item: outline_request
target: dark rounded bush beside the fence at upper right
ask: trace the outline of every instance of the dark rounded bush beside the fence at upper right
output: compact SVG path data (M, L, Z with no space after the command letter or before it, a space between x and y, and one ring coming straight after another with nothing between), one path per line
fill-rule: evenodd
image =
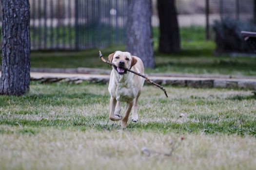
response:
M241 31L256 32L256 25L249 22L241 22L235 19L226 18L222 21L215 21L215 42L218 53L225 52L254 52L252 46L244 41Z

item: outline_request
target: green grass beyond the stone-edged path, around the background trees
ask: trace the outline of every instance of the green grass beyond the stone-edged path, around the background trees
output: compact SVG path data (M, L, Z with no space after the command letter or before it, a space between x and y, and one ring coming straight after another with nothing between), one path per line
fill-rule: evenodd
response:
M214 56L215 43L204 40L204 28L181 28L182 50L177 54L157 52L158 29L154 28L156 68L146 69L146 73L191 73L256 75L256 58ZM109 67L98 59L98 50L105 57L116 50L125 51L124 46L86 51L32 52L31 65L34 68L106 68Z

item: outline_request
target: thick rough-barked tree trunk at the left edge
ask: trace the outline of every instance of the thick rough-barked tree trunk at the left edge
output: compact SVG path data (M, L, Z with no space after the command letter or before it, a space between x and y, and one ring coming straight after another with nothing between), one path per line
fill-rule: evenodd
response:
M2 75L1 95L20 96L29 90L29 0L1 0Z

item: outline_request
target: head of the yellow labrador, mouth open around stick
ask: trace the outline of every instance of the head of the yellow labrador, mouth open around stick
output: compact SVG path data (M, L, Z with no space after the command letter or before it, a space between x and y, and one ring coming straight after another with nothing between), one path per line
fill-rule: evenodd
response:
M120 75L126 74L126 69L132 68L137 63L137 59L130 52L122 51L116 51L110 54L108 60L117 66L115 70Z

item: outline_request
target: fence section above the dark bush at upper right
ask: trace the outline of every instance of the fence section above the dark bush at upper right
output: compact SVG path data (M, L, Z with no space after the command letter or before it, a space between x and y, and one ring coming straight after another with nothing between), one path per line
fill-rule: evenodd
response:
M212 34L210 26L226 17L256 23L256 0L206 0L207 39Z

